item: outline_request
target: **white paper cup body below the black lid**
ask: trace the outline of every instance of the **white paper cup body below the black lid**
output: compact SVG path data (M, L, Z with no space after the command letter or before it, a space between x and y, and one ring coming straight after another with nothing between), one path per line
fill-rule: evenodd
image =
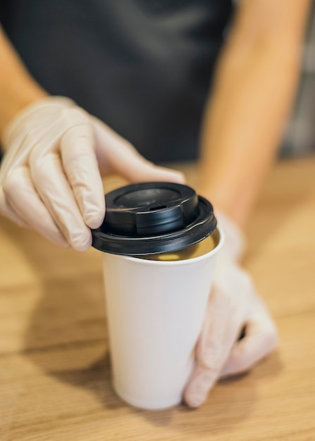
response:
M202 256L156 261L104 253L113 387L142 409L181 402L194 366L222 233Z

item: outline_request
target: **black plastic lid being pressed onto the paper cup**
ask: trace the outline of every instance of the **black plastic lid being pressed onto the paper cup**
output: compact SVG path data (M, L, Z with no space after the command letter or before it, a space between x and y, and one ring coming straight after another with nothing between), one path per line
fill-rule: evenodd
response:
M92 230L92 246L127 256L160 254L190 247L216 229L209 201L187 185L142 182L106 194L106 215Z

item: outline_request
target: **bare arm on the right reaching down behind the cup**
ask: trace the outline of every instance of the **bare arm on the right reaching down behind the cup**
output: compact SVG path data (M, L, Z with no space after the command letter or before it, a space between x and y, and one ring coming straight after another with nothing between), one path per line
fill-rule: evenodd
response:
M244 226L295 95L309 0L242 0L206 106L199 191Z

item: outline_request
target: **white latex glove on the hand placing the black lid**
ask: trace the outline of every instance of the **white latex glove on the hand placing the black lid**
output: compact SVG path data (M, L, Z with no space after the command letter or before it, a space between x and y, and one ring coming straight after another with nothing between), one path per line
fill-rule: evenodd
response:
M104 220L101 173L130 182L183 182L183 174L156 167L97 118L65 97L25 108L4 132L0 212L49 240L84 251L89 228Z

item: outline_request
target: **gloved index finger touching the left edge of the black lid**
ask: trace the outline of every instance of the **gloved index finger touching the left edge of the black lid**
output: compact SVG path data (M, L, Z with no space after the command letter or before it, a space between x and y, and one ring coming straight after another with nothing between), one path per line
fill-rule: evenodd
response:
M83 111L63 112L73 125L61 138L61 159L83 219L90 228L99 228L105 216L105 198L94 133Z

